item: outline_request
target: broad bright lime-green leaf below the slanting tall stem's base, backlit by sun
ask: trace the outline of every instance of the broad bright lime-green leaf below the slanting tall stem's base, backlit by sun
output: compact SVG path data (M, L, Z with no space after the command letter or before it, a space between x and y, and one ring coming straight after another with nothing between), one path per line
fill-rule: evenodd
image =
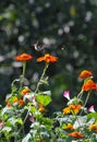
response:
M51 102L51 97L43 94L38 94L37 96L37 102L43 104L44 106L47 106Z

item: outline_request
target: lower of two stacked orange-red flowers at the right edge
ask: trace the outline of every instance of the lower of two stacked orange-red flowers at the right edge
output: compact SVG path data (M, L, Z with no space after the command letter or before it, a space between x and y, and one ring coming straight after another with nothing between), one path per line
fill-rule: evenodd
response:
M97 84L93 80L88 79L86 83L82 86L82 90L83 91L97 90Z

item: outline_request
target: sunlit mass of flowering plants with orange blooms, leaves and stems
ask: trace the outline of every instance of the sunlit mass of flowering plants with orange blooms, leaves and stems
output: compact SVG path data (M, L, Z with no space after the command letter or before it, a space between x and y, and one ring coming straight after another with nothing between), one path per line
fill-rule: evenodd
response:
M47 106L51 103L51 92L40 90L48 85L46 71L58 58L45 55L46 62L36 90L25 86L26 63L31 55L22 54L15 58L23 64L23 72L13 80L11 93L7 95L4 107L0 106L0 141L1 142L95 142L97 141L97 113L94 105L87 109L86 104L97 84L93 81L93 72L84 70L78 78L84 80L81 92L71 98L70 91L64 91L66 107L54 111L49 117ZM39 61L37 59L37 61ZM54 59L54 60L53 60ZM43 60L41 60L43 61ZM83 100L83 95L86 96ZM27 125L27 132L26 132Z

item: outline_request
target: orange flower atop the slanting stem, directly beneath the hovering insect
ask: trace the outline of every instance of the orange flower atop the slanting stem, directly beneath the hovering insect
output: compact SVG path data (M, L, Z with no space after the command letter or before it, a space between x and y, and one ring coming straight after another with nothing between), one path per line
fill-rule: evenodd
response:
M58 60L57 57L50 56L49 54L46 54L44 57L39 57L37 59L38 62L46 61L46 62L56 62Z

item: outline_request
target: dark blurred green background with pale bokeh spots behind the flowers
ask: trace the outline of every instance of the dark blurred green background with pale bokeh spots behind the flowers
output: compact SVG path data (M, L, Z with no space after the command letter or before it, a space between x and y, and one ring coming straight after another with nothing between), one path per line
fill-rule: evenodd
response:
M48 48L37 51L36 42ZM35 84L44 68L36 58L50 52L59 58L50 64L47 75L52 103L49 109L62 109L62 94L76 95L82 86L78 74L92 70L97 82L97 0L1 0L0 1L0 104L11 92L11 82L19 78L22 64L14 56L27 52L34 59L27 63L26 84ZM93 92L88 106L95 104ZM84 99L84 98L83 98Z

